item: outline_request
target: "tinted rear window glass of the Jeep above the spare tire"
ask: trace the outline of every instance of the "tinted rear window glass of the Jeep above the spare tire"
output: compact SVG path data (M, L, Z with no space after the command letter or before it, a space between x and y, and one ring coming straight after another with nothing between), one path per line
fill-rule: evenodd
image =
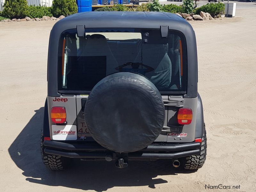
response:
M59 45L59 92L90 92L102 78L118 72L139 73L160 92L186 92L184 36L160 29L86 29L77 37L65 31Z

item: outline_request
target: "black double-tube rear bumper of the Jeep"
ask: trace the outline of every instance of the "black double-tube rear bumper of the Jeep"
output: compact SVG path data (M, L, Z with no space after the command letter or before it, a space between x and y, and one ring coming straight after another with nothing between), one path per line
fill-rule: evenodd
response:
M151 144L140 151L126 153L128 159L172 159L200 154L200 142L175 143L175 144ZM97 143L71 144L59 141L44 141L44 153L70 158L96 158L105 159L107 155L115 157L114 151L110 151Z

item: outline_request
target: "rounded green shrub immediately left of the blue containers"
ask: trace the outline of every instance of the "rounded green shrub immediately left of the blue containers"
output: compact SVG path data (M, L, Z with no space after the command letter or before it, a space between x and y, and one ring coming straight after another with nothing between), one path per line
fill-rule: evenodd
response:
M60 15L68 16L77 13L76 0L54 0L52 1L52 15L60 17Z

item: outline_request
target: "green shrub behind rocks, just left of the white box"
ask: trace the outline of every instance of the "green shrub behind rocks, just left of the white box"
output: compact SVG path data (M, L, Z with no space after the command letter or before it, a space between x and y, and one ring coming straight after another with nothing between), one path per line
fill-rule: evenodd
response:
M195 9L196 14L200 14L200 11L208 12L212 15L212 17L218 17L222 14L225 14L225 4L220 2L211 4L208 3Z

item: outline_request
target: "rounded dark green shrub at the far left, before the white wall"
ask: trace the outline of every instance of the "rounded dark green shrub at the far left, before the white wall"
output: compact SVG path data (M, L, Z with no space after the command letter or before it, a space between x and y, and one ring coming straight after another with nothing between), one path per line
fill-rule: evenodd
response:
M28 16L28 2L26 0L5 0L4 17L25 18Z

